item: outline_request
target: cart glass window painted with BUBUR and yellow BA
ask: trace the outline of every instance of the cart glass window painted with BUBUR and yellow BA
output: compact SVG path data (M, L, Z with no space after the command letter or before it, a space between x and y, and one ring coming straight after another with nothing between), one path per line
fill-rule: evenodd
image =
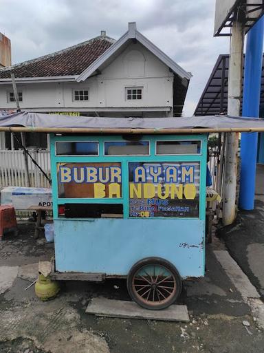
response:
M122 173L120 162L57 163L58 197L120 198Z

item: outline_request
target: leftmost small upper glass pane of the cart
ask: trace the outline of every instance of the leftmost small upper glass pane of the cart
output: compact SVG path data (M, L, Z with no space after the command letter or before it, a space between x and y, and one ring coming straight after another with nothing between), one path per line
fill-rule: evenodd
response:
M57 156L98 156L98 142L56 142Z

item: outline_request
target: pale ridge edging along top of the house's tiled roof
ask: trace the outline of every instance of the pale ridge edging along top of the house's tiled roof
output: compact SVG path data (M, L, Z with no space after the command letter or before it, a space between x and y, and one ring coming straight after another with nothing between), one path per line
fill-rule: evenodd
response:
M10 65L10 66L7 66L7 67L2 67L0 69L0 72L9 71L9 70L14 69L16 67L23 66L23 65L28 65L28 64L31 64L31 63L37 63L38 61L45 60L46 58L52 58L53 56L64 54L66 52L69 52L70 50L74 50L74 49L76 49L76 47L81 47L83 45L87 45L89 43L93 43L94 41L98 41L99 39L101 41L103 41L103 40L109 41L109 43L112 43L112 44L115 43L115 39L113 39L113 38L111 38L109 36L101 36L101 35L100 36L96 36L96 37L94 37L92 39L88 39L87 41L83 41L81 43L72 45L71 47L66 47L65 49L58 50L58 52L45 54L45 55L39 56L37 58L33 58L33 59L30 59L30 60L27 60L27 61L22 61L21 63L17 63L17 64Z

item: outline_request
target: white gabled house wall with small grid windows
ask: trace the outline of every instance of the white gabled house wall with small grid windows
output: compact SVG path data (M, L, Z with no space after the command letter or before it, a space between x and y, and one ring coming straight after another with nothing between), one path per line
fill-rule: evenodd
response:
M125 87L142 87L142 100L126 100ZM166 106L171 107L169 115L172 115L173 73L140 43L130 44L101 74L83 83L18 83L17 88L23 92L21 109L100 111L100 108L131 107L133 111L135 107ZM74 89L88 89L89 100L74 101ZM16 107L15 103L8 103L8 91L12 91L12 85L0 85L0 109ZM161 113L158 115L164 114Z

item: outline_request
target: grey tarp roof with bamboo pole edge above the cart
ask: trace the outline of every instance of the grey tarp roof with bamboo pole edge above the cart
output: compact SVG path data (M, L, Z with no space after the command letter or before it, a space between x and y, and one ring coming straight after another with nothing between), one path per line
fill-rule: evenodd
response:
M264 119L234 116L101 118L20 111L0 117L0 131L54 133L208 133L264 131Z

